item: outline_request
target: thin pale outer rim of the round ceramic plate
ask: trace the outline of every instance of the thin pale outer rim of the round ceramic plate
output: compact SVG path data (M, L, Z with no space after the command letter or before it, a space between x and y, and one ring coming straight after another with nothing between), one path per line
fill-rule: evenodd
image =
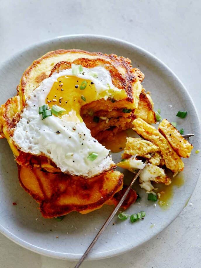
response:
M3 69L4 66L6 64L9 63L9 61L12 61L13 58L20 56L20 54L25 53L27 51L30 51L34 48L36 48L37 46L42 46L42 45L46 45L50 42L55 42L59 39L71 39L71 38L80 38L80 37L84 37L84 38L94 38L94 39L104 39L104 40L108 40L108 41L116 41L118 42L118 44L126 44L130 47L133 47L134 49L147 54L149 56L150 59L154 60L155 62L159 63L161 66L164 67L165 70L167 70L169 73L171 73L171 75L177 80L177 82L181 85L181 87L183 88L183 90L185 91L185 93L188 95L189 97L189 101L192 104L192 108L195 112L196 118L197 118L197 122L198 122L198 129L199 129L199 138L201 137L201 123L200 123L200 118L198 116L198 112L197 112L197 108L193 102L192 97L190 96L190 93L188 92L188 90L186 89L186 87L184 86L183 82L180 80L180 78L169 68L169 66L167 66L166 63L164 63L162 60L158 59L155 55L153 55L152 53L150 53L149 51L147 51L146 49L143 49L142 47L133 44L131 42L116 38L116 37L110 37L110 36L106 36L106 35L96 35L96 34L74 34L74 35L61 35L58 37L54 37L51 39L46 39L44 41L41 42L36 42L30 46L25 47L24 49L20 49L19 51L11 54L11 56L4 60L1 64L0 64L0 69ZM201 172L200 172L201 173ZM195 183L195 186L192 190L192 193L188 196L187 201L190 200L190 197L192 196L195 187L197 185L197 181L200 177L200 173L197 176L197 180ZM185 205L186 206L186 205ZM184 206L184 207L185 207ZM140 243L138 243L138 245L136 245L135 247L125 247L125 248L121 248L121 249L116 249L114 251L105 251L105 252L101 252L100 256L93 256L93 257L89 257L87 258L87 260L99 260L99 259L104 259L104 258L109 258L109 257L114 257L120 254L124 254L126 252L129 252L131 250L133 250L134 248L143 245L144 243L146 243L148 240L150 240L151 238L155 237L158 233L160 233L161 231L163 231L164 229L166 229L178 216L179 214L183 211L184 207L181 209L181 211L179 211L174 218L171 219L171 221L163 228L159 228L157 230L156 233L152 234L151 237L147 237L145 238L145 240L141 241ZM28 250L31 250L32 252L47 256L47 257L53 257L53 258L58 258L58 259L63 259L63 260L71 260L71 261L75 261L75 260L79 260L79 258L82 256L82 254L72 254L72 253L63 253L63 252L56 252L53 250L47 250L44 248L40 248L37 247L36 245L32 245L31 243L26 242L25 240L19 238L18 236L15 236L14 234L12 234L10 231L8 231L4 226L2 226L0 224L0 232L6 236L8 239L12 240L14 243L22 246L23 248L26 248Z

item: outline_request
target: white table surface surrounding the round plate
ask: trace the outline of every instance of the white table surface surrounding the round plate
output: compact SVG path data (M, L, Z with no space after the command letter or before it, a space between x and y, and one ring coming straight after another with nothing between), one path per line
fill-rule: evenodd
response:
M99 34L133 42L166 63L182 80L201 114L200 0L0 1L1 61L33 43L68 34ZM83 268L201 267L200 180L179 217L135 251L85 262ZM0 267L71 268L0 234Z

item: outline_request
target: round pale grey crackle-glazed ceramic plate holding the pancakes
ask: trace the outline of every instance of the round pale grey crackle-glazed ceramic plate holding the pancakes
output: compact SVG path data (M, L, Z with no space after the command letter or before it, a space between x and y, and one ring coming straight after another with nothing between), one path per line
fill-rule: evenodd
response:
M152 92L155 109L161 108L162 117L177 121L185 133L194 133L191 142L198 148L201 143L199 119L192 99L181 81L155 56L119 39L94 35L64 36L33 45L15 54L0 67L1 104L16 94L16 85L32 61L51 50L72 48L129 57L133 66L139 66L145 73L143 86ZM187 110L188 116L184 120L176 118L178 110ZM120 159L120 154L113 154L113 159ZM116 217L116 224L108 226L88 258L95 260L127 252L167 227L186 206L199 177L201 159L195 150L184 163L186 183L180 188L174 188L169 209L163 210L158 205L154 207L152 202L147 201L147 194L140 191L143 197L141 207L139 204L131 205L128 213L144 210L145 219L132 224L129 220L117 221ZM125 177L128 180L131 174L125 172ZM135 188L138 189L137 184ZM27 249L66 260L81 257L113 209L104 206L86 215L73 212L61 222L42 218L37 203L19 185L16 163L6 139L0 140L0 191L0 231ZM17 202L17 205L13 206L13 202Z

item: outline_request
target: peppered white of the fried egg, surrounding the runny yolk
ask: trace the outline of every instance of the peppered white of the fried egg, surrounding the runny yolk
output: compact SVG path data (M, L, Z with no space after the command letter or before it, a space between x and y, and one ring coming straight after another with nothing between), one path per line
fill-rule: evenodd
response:
M107 90L108 86L119 91L112 84L110 73L105 68L83 68L83 71L84 75L80 73L76 77L93 81L98 92ZM93 77L91 72L98 76ZM62 172L93 177L115 166L111 156L108 156L110 150L91 136L84 122L65 121L56 116L48 116L42 120L38 111L46 103L53 83L64 75L72 75L72 69L54 73L30 94L15 128L13 141L23 152L43 154L50 158ZM104 99L108 97L110 96L105 95ZM72 118L71 113L73 110L69 113L69 118ZM57 134L57 131L60 133ZM92 152L98 154L94 161L87 159Z

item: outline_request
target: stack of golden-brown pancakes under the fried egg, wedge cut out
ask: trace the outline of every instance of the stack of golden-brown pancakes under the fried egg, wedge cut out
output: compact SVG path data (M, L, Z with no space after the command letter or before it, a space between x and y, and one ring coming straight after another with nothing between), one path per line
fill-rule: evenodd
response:
M131 128L137 117L147 123L156 121L152 99L141 86L144 75L132 67L128 58L71 49L51 51L34 61L22 75L18 94L0 108L0 137L8 140L15 155L20 184L39 202L42 215L48 218L71 211L84 214L104 204L117 204L125 191L123 175L115 167L93 178L72 176L62 173L46 156L25 153L13 143L13 132L30 93L53 73L71 68L72 63L86 68L104 67L111 75L112 84L126 92L121 100L103 98L82 106L80 115L99 142ZM131 190L124 209L135 200L136 193Z

